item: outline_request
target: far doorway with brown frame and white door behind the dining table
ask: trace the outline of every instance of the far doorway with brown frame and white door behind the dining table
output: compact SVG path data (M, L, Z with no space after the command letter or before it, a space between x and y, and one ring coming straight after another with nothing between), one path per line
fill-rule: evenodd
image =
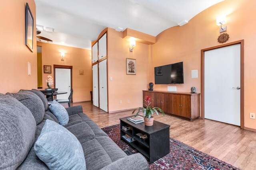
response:
M68 99L72 89L72 66L53 65L54 67L54 88L59 92L67 94L57 95L57 99Z

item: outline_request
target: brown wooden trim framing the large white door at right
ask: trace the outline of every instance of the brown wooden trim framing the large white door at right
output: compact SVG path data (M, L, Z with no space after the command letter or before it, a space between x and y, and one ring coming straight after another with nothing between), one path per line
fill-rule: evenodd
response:
M240 127L244 129L244 40L234 41L214 47L201 50L201 119L204 119L204 53L212 49L218 49L222 47L228 47L230 45L240 44Z

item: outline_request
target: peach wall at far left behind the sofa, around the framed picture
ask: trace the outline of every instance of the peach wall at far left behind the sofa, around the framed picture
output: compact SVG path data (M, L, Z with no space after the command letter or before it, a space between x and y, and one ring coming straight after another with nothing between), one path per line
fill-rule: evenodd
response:
M32 53L25 45L25 8L34 17ZM0 93L37 88L36 4L34 0L0 1ZM28 62L31 76L28 76Z

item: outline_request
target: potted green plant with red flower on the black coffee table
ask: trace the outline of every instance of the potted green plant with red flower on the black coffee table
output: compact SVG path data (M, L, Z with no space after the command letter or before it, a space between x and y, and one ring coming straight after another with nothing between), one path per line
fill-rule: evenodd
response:
M139 107L138 108L138 112L136 113L135 117L138 116L138 114L141 112L143 113L143 117L144 117L144 122L146 126L152 126L154 123L154 117L152 116L154 113L156 113L156 115L158 115L158 111L160 113L162 113L164 115L164 111L162 111L162 109L158 108L158 107L152 107L150 106L151 104L151 100L152 98L150 98L150 96L145 96L144 101L145 106L146 107ZM135 113L137 109L134 109L134 111L132 111L132 114Z

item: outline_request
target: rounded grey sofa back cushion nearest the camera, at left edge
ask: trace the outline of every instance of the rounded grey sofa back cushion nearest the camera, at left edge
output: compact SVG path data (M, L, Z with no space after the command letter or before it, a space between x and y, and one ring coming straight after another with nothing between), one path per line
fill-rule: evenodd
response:
M36 121L12 96L0 94L0 108L0 169L16 169L34 143Z

